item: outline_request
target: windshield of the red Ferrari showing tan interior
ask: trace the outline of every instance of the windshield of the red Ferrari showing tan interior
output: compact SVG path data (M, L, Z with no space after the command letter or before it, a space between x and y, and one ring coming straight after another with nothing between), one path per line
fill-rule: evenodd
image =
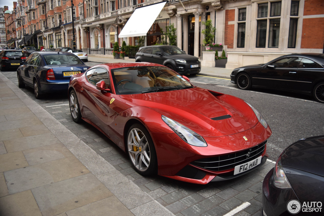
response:
M148 92L193 88L182 76L162 66L124 67L111 70L116 94L142 94Z

